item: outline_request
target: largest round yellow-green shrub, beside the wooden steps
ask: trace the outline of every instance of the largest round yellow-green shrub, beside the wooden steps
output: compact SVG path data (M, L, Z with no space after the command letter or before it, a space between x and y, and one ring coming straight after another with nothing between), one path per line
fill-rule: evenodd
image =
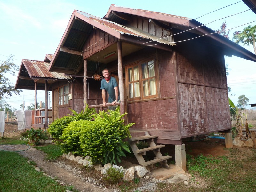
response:
M129 127L134 123L124 124L125 114L120 115L120 108L115 111L101 111L94 115L94 121L81 129L80 147L84 156L90 156L92 163L117 163L125 157L124 150L130 153L128 144L123 142L130 136Z

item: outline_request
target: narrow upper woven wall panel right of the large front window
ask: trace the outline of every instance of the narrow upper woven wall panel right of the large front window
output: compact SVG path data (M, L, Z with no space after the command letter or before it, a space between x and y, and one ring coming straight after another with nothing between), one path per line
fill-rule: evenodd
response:
M174 62L173 53L164 52L158 54L161 97L171 97L176 95Z

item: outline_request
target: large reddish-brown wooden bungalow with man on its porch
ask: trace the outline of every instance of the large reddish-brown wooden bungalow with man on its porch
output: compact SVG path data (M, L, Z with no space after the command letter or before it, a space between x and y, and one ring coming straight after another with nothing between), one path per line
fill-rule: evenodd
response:
M100 81L92 77L108 68L119 82L121 113L136 123L131 132L146 133L159 161L169 157L159 155L155 142L181 146L184 169L185 138L226 132L226 147L232 147L225 55L256 61L194 19L112 4L104 18L74 10L48 69L76 81L66 94L80 112L85 104L102 106ZM60 86L52 90L60 117L67 108L58 101ZM148 166L140 157L145 151L132 148Z

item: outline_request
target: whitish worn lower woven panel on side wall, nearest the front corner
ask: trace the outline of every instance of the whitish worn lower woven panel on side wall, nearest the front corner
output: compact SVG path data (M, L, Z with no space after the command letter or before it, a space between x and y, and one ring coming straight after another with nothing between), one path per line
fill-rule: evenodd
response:
M179 84L181 136L207 132L204 87Z

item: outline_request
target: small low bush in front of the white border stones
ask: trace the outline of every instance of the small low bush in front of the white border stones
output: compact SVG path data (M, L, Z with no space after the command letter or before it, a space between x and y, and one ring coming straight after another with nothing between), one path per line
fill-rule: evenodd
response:
M124 177L124 172L120 169L110 167L106 170L106 173L103 175L102 179L110 184L118 184L119 181Z

